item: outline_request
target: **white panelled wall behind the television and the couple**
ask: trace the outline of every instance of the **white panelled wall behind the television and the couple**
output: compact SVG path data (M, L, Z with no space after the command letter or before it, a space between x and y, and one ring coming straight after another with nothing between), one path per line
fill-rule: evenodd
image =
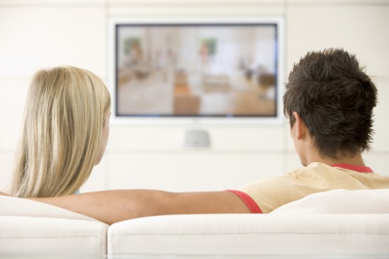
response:
M309 50L344 47L378 86L376 134L366 163L389 175L388 0L0 0L0 188L10 179L24 101L37 69L71 64L108 79L108 19L115 16L285 18L285 71ZM181 148L185 128L111 125L103 161L82 191L223 190L299 166L286 122L209 127L211 149Z

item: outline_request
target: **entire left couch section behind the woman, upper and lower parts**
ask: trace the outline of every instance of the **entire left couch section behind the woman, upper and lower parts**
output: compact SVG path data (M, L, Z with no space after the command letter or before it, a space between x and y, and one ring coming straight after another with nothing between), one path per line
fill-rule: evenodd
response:
M0 196L0 258L102 258L107 231L66 209Z

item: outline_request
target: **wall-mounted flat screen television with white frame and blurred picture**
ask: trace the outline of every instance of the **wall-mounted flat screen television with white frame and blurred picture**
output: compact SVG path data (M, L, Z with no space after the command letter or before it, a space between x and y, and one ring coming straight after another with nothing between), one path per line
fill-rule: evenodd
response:
M282 20L115 19L114 120L279 122Z

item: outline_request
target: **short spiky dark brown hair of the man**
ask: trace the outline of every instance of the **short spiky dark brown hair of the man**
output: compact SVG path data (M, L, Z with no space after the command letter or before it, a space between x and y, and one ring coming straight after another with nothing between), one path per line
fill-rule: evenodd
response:
M300 115L320 156L337 159L370 149L377 89L353 54L309 52L286 84L284 114Z

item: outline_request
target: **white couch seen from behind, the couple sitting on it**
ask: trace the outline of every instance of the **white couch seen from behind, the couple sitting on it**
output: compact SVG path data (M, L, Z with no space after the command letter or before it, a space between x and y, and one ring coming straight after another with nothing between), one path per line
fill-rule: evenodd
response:
M321 192L270 214L168 215L111 226L0 196L0 258L6 255L389 255L389 189Z

